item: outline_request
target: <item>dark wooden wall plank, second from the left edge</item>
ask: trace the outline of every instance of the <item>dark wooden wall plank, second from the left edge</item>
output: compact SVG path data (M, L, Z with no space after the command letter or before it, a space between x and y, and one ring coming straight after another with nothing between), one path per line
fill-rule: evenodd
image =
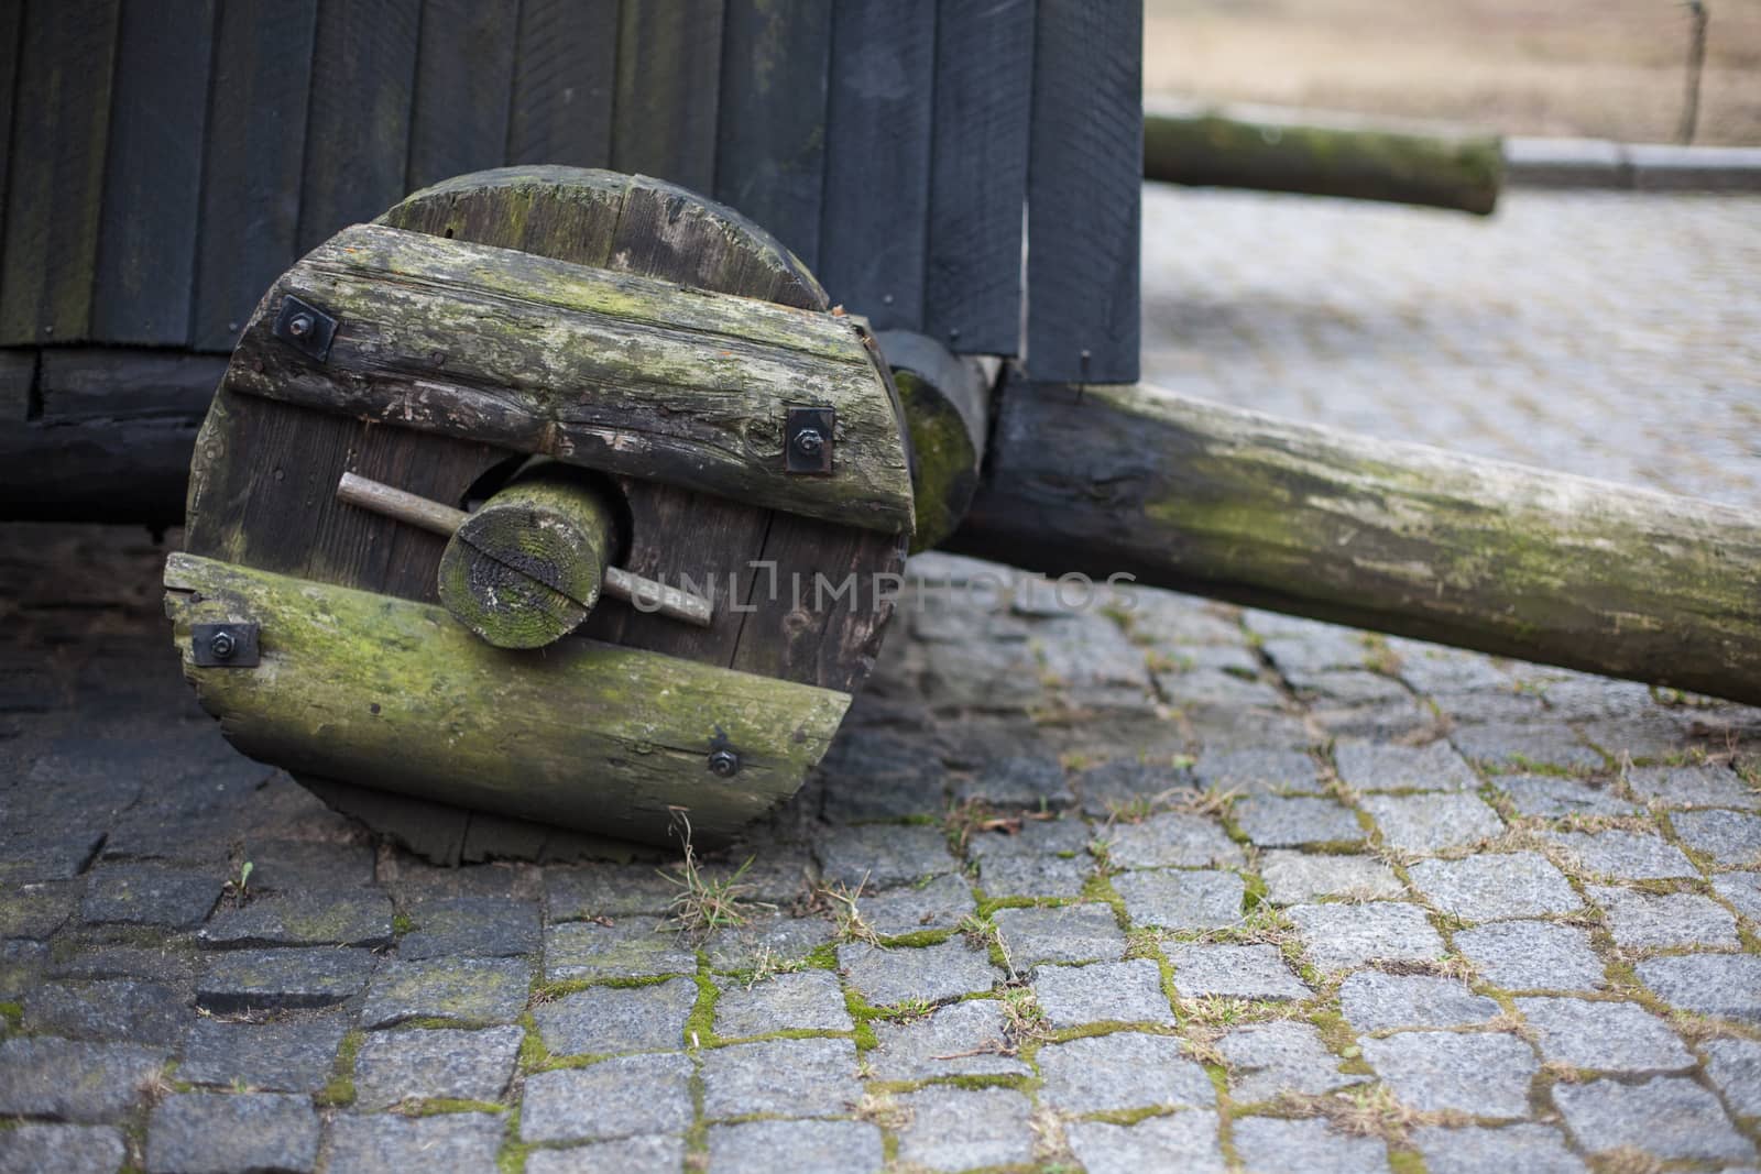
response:
M190 338L213 25L215 0L123 4L92 294L106 343Z

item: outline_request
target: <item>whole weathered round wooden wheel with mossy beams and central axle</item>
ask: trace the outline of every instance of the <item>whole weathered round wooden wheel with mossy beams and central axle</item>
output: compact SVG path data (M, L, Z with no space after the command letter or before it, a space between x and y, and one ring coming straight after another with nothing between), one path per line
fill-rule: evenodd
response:
M430 859L660 843L674 808L713 843L879 651L907 449L861 322L738 213L461 176L262 299L167 611L234 745Z

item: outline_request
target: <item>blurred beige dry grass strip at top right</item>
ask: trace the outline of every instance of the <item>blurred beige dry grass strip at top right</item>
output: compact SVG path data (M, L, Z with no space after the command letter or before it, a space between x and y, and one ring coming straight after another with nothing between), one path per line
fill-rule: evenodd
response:
M1698 143L1761 143L1761 5L1710 0ZM1148 0L1145 92L1668 143L1671 0Z

